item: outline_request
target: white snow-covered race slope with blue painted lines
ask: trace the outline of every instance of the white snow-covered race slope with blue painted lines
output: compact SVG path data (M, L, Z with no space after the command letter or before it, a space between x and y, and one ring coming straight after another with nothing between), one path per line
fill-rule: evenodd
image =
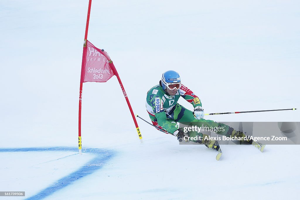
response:
M299 146L203 145L134 123L116 77L78 93L88 0L1 1L0 199L298 199ZM105 49L135 114L166 70L206 113L300 108L299 1L93 1L88 40ZM192 109L184 100L183 106ZM300 121L299 111L207 116Z

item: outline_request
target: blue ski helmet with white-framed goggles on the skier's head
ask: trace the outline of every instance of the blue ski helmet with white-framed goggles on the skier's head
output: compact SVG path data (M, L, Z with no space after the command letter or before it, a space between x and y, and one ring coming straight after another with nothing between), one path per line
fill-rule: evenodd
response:
M173 87L172 86L169 87L169 85L172 85ZM175 88L179 89L181 86L181 80L179 74L173 70L164 72L161 77L161 86L163 87L164 90L166 90L167 88L169 90L174 90Z

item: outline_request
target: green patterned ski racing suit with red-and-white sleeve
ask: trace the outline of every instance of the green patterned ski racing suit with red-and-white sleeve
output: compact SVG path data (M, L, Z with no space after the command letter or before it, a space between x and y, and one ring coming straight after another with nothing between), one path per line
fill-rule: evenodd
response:
M164 91L161 85L155 85L148 91L146 98L146 109L153 125L164 129L169 133L174 133L179 129L177 122L190 126L195 125L198 127L201 127L202 125L204 127L224 127L222 130L219 129L220 131L217 131L216 133L230 137L233 130L232 128L212 120L196 119L192 111L177 103L179 97L183 97L185 100L191 103L193 107L202 106L199 98L184 85L181 85L174 96L171 96ZM202 137L202 133L191 131L189 136Z

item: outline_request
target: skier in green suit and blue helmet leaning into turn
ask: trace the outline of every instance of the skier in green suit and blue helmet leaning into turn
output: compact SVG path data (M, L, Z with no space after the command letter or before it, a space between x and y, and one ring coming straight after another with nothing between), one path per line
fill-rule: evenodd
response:
M194 111L192 112L177 103L179 97L183 97L191 103L194 107ZM195 130L190 132L184 131L184 128L179 127L177 122L189 126L196 125L199 127L200 125L201 127L211 127L216 130L217 134L227 137L245 137L243 132L236 131L232 127L212 120L203 119L204 111L201 101L189 88L181 84L179 74L173 70L164 72L159 81L159 85L155 85L148 91L146 109L152 124L169 133L173 133L177 136L179 142L184 140L185 142L192 141L204 144L208 148L216 150L219 148L217 141L209 140L207 135L200 132L198 133L198 131ZM189 140L186 140L187 138L189 138ZM190 138L196 138L196 140L191 140ZM251 144L252 141L243 140L243 142Z

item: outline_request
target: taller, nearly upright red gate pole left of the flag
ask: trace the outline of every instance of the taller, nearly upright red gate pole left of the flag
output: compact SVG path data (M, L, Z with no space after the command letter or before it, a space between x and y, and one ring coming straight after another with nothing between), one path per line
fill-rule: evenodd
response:
M80 78L80 88L79 88L79 115L78 115L78 149L79 154L82 154L82 145L81 145L81 102L82 102L82 82L83 76L82 67L84 67L84 52L86 51L86 40L88 38L88 22L90 21L90 13L91 13L91 4L92 0L88 1L88 16L86 18L86 26L85 26L85 35L84 35L84 43L83 43L83 53L82 53L82 64L81 64L81 78Z

